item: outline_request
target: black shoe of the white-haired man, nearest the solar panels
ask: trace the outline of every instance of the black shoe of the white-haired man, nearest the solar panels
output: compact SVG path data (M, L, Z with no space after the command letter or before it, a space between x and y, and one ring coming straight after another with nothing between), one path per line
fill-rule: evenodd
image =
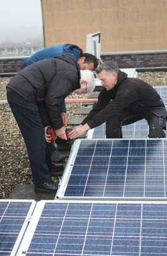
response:
M44 182L42 184L35 184L34 191L37 193L55 193L57 192L58 185L55 182Z

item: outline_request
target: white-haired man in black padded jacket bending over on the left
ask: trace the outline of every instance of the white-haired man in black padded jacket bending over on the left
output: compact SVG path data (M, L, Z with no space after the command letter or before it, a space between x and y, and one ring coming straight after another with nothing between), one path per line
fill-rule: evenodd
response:
M67 140L60 105L80 87L85 92L87 81L80 79L80 66L72 54L27 66L7 84L7 101L27 146L35 192L57 190L45 158L44 126L52 126L57 136ZM40 115L42 101L45 104Z

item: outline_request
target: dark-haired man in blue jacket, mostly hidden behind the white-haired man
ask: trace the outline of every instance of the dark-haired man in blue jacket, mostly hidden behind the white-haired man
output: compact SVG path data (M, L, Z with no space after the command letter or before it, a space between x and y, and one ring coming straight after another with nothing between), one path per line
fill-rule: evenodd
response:
M81 70L89 69L93 71L97 68L97 58L92 54L83 53L82 49L75 44L55 44L54 46L41 49L29 58L22 60L20 68L23 69L37 61L41 61L42 59L54 58L55 56L62 56L66 53L72 53L74 55ZM65 101L61 104L61 116L64 121L64 125L67 126L68 118L66 114ZM58 162L65 160L65 156L60 154L58 150L69 150L71 143L70 140L57 138L56 144L57 148L55 148L54 143L47 143L47 148L49 150L50 160L54 164L54 168L58 170L62 168L62 165L59 165Z

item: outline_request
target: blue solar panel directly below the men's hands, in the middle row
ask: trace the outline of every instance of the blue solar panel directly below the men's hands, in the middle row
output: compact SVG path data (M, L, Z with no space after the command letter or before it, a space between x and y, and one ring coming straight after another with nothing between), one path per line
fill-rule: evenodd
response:
M57 198L165 198L167 140L77 140Z

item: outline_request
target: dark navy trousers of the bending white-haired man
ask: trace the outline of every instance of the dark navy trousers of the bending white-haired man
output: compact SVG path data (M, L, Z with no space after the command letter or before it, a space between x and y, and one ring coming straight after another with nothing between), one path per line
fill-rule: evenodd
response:
M34 183L49 182L44 126L37 106L7 88L7 101L27 146Z

